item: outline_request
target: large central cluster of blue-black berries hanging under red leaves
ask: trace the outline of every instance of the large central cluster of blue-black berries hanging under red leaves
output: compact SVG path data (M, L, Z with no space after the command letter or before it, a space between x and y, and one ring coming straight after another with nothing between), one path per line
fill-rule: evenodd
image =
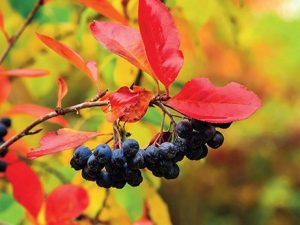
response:
M126 183L136 187L143 181L140 169L149 169L154 176L166 179L178 177L177 162L184 156L200 160L207 156L208 148L223 144L223 135L216 130L228 128L230 124L210 124L198 120L181 121L176 125L176 139L159 146L150 145L140 149L134 139L127 139L121 149L111 150L107 144L98 145L93 151L80 146L70 161L75 170L82 170L82 177L96 181L104 188L123 188Z

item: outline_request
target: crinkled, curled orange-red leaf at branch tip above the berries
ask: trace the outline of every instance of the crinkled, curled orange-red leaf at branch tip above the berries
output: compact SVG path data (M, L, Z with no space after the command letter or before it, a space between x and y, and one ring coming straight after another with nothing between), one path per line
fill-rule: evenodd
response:
M108 96L110 108L106 108L107 119L113 122L117 119L127 122L136 122L146 113L152 98L152 92L139 86L133 90L121 87Z

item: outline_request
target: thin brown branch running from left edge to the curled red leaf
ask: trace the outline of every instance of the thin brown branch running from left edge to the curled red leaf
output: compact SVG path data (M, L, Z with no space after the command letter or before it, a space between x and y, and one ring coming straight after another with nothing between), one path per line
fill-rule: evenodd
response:
M37 120L33 121L31 124L29 124L26 128L24 128L24 130L22 130L21 132L19 132L18 134L14 135L13 137L11 137L10 139L8 139L6 142L4 142L1 146L0 146L0 154L5 151L5 148L9 147L10 145L12 145L13 143L15 143L16 141L18 141L19 139L21 139L22 137L26 136L26 135L32 135L34 132L31 132L31 130L36 127L37 125L53 118L53 117L57 117L57 116L61 116L61 115L65 115L71 112L78 112L81 109L86 109L86 108L92 108L92 107L99 107L99 106L105 106L108 105L109 102L108 101L99 101L99 102L83 102L77 105L73 105L70 107L66 107L66 108L59 108L56 109L40 118L38 118Z

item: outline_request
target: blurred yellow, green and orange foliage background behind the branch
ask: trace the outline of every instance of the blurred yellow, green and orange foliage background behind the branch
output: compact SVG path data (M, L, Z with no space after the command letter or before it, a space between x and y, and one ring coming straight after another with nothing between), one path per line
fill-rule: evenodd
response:
M121 0L110 1L123 13ZM23 23L35 0L1 0L8 33ZM300 1L298 0L166 0L181 35L185 64L171 94L191 78L208 77L216 84L236 81L256 92L263 107L249 119L224 130L225 143L202 161L184 160L178 179L165 181L145 173L139 188L114 190L103 217L111 224L132 224L143 212L143 203L157 225L297 225L300 224ZM137 0L127 7L130 26L137 27ZM86 76L47 49L35 32L56 38L85 59L98 62L101 85L110 90L130 86L137 68L104 50L92 37L88 24L109 20L72 0L51 0L42 7L2 66L46 69L42 78L11 79L12 91L1 103L0 114L13 105L34 103L55 107L57 84L62 76L69 93L63 105L73 105L95 95ZM6 41L0 34L0 52ZM0 83L0 91L1 91ZM154 90L144 74L141 85ZM32 117L13 115L13 130ZM67 115L70 127L109 132L111 126L98 109ZM159 131L161 114L150 109L129 130L142 146ZM45 131L59 127L43 125ZM42 134L25 138L23 146L38 146ZM96 146L103 138L90 141ZM91 196L87 214L101 204L104 191L85 182L68 166L72 150L30 163L40 174L46 193L61 184L43 164L54 167L68 182L86 187ZM41 219L42 221L42 219ZM11 197L11 188L0 178L0 224L27 224L24 209Z

